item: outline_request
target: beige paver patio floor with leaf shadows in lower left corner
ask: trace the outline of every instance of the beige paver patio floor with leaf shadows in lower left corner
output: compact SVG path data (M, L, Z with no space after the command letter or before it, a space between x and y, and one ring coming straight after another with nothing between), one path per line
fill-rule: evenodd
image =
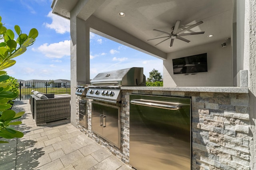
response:
M28 100L16 101L14 111L25 111L20 139L3 139L0 170L131 170L108 150L76 129L70 120L36 125Z

